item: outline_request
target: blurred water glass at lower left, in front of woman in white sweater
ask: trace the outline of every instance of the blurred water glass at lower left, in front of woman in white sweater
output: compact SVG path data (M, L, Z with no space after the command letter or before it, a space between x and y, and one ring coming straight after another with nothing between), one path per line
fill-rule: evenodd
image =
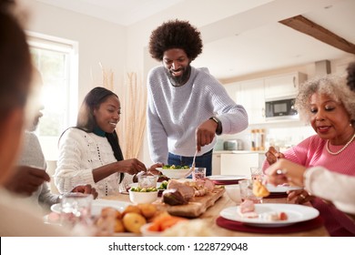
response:
M74 228L77 224L84 226L91 222L91 194L66 193L61 200L60 219L64 226Z

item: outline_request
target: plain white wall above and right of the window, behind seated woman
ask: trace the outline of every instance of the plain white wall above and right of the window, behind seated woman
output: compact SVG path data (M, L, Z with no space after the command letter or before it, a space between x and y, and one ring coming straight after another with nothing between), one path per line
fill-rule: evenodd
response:
M99 62L115 74L115 92L123 84L126 61L126 28L30 0L27 30L78 42L78 104L93 87L101 85Z

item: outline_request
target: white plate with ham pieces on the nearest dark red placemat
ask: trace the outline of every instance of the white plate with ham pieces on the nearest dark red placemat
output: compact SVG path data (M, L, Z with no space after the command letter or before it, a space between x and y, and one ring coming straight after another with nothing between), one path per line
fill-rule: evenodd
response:
M219 215L224 219L239 221L250 226L263 228L285 227L297 222L314 219L320 215L318 209L294 204L256 204L255 211L259 214L272 211L283 211L286 212L289 219L270 221L260 217L255 219L242 218L238 214L238 206L223 209Z

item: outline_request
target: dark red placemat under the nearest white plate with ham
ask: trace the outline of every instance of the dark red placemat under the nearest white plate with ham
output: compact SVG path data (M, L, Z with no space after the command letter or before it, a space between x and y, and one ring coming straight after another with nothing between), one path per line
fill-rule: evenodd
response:
M218 219L216 219L216 223L219 227L228 230L263 233L263 234L280 234L280 233L307 231L307 230L320 228L323 225L323 219L321 219L319 216L315 219L309 219L307 221L302 221L289 226L276 227L276 228L262 228L262 227L249 226L239 221L224 219L223 217L220 216L218 217Z

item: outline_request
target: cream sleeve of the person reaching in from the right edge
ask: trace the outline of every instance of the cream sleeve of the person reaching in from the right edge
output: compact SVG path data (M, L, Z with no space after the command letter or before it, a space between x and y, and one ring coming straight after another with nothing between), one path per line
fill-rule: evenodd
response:
M310 194L330 200L341 211L355 214L355 177L314 167L306 170L304 185Z

